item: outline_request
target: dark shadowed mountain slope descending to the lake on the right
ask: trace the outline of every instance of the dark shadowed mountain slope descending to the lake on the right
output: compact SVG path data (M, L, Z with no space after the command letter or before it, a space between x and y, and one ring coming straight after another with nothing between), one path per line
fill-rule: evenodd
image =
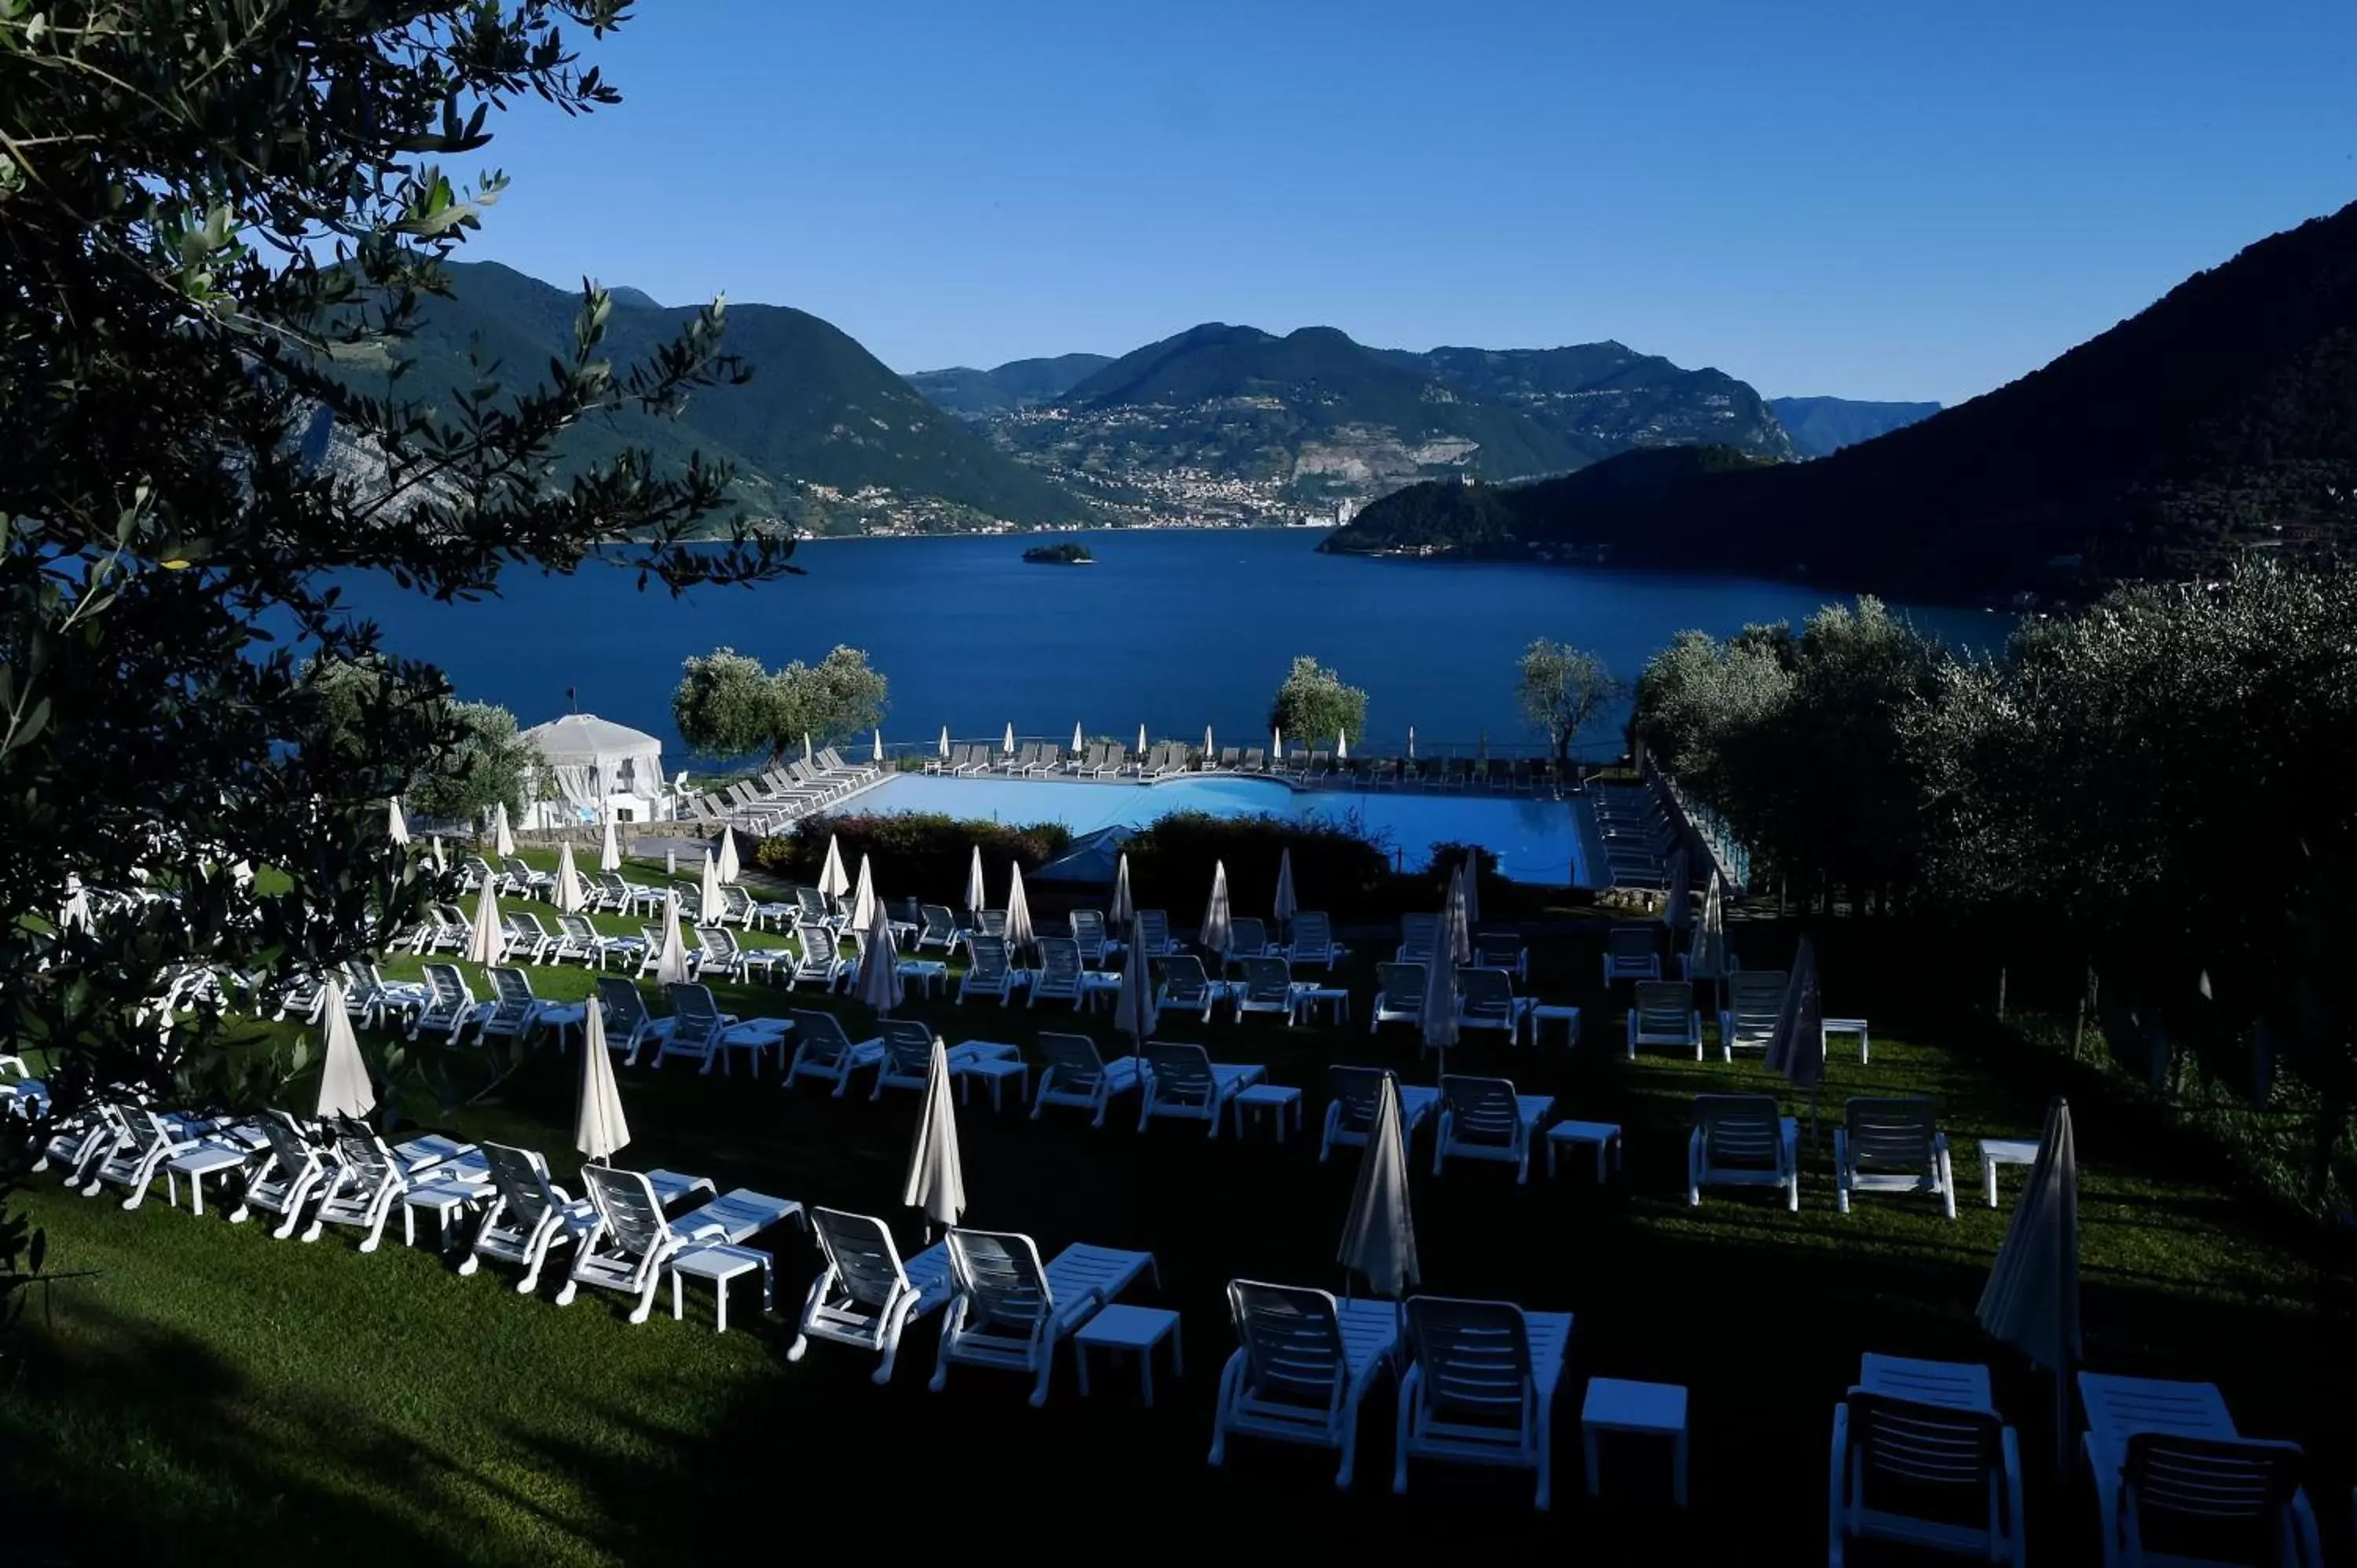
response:
M2348 552L2357 205L2194 274L2044 370L1831 457L1697 457L1676 483L1638 483L1659 479L1640 472L1648 457L1501 490L1475 547L1942 601L2194 578L2253 549ZM1391 498L1327 547L1450 549L1433 516L1428 498Z

